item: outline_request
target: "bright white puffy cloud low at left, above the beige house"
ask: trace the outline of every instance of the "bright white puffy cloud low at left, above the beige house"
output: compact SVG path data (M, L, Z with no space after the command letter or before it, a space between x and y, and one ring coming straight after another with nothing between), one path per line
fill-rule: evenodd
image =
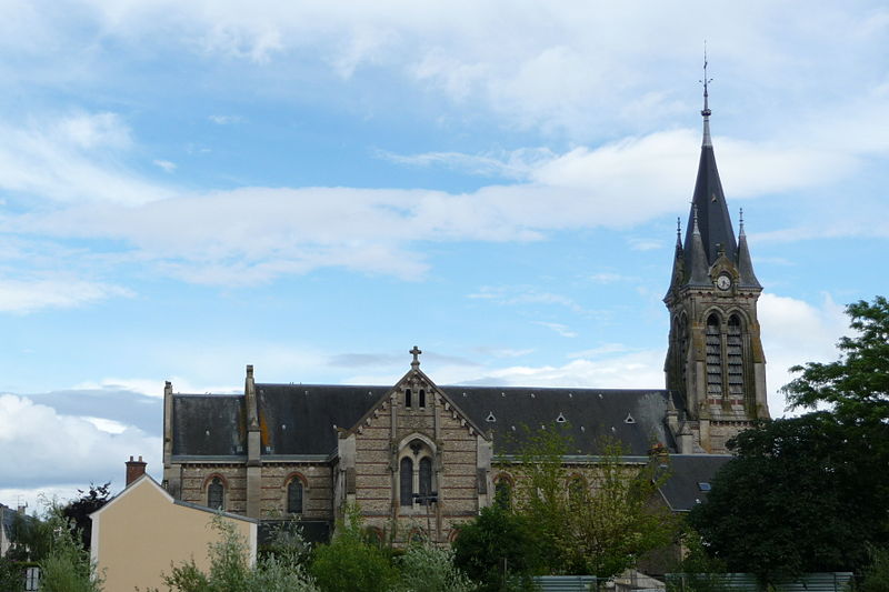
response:
M26 397L0 395L0 488L117 481L130 454L160 464L159 437L132 427L109 433L110 423L100 429L94 421L59 414Z

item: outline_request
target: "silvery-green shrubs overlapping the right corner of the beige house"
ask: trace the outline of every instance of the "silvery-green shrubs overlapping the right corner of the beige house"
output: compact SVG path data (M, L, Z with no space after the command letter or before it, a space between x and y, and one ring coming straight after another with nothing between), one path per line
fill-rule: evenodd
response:
M278 545L279 553L269 554L253 568L248 556L247 541L233 524L217 516L212 528L219 539L208 545L210 571L203 573L187 561L164 574L163 582L176 592L317 592L312 579L299 563L301 550L288 551ZM279 541L280 543L280 541Z

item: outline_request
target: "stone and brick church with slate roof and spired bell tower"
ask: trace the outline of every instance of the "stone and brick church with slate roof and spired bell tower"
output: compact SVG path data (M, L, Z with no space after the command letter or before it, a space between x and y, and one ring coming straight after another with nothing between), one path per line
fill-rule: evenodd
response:
M706 491L707 479L695 474L711 475L728 458L728 439L769 411L762 287L743 219L736 239L729 217L706 84L701 114L691 211L685 240L677 230L663 299L666 389L439 385L420 369L416 345L409 370L390 385L272 384L248 365L239 394L177 393L167 382L163 486L184 502L259 520L299 515L321 530L351 502L381 540L444 542L511 483L525 427L563 424L568 464L595 462L607 435L622 442L628 463L666 448L683 482ZM681 483L662 491L680 511L703 495L679 491Z

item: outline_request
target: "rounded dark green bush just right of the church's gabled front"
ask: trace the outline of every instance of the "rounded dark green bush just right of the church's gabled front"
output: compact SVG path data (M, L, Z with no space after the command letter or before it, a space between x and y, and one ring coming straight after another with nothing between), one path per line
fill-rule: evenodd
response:
M538 542L526 516L507 504L495 504L460 528L453 542L455 563L479 583L479 592L520 590L522 582L528 588L530 576L542 573Z

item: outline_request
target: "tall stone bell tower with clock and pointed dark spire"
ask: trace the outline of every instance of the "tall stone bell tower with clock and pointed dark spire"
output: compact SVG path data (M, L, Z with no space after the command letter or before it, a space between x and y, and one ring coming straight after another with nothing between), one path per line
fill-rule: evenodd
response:
M757 319L762 285L753 273L743 211L736 240L719 180L706 61L703 68L698 178L685 240L677 221L672 278L663 299L670 311L665 372L667 388L685 401L686 419L696 423L700 445L716 451L750 421L768 418L769 409Z

